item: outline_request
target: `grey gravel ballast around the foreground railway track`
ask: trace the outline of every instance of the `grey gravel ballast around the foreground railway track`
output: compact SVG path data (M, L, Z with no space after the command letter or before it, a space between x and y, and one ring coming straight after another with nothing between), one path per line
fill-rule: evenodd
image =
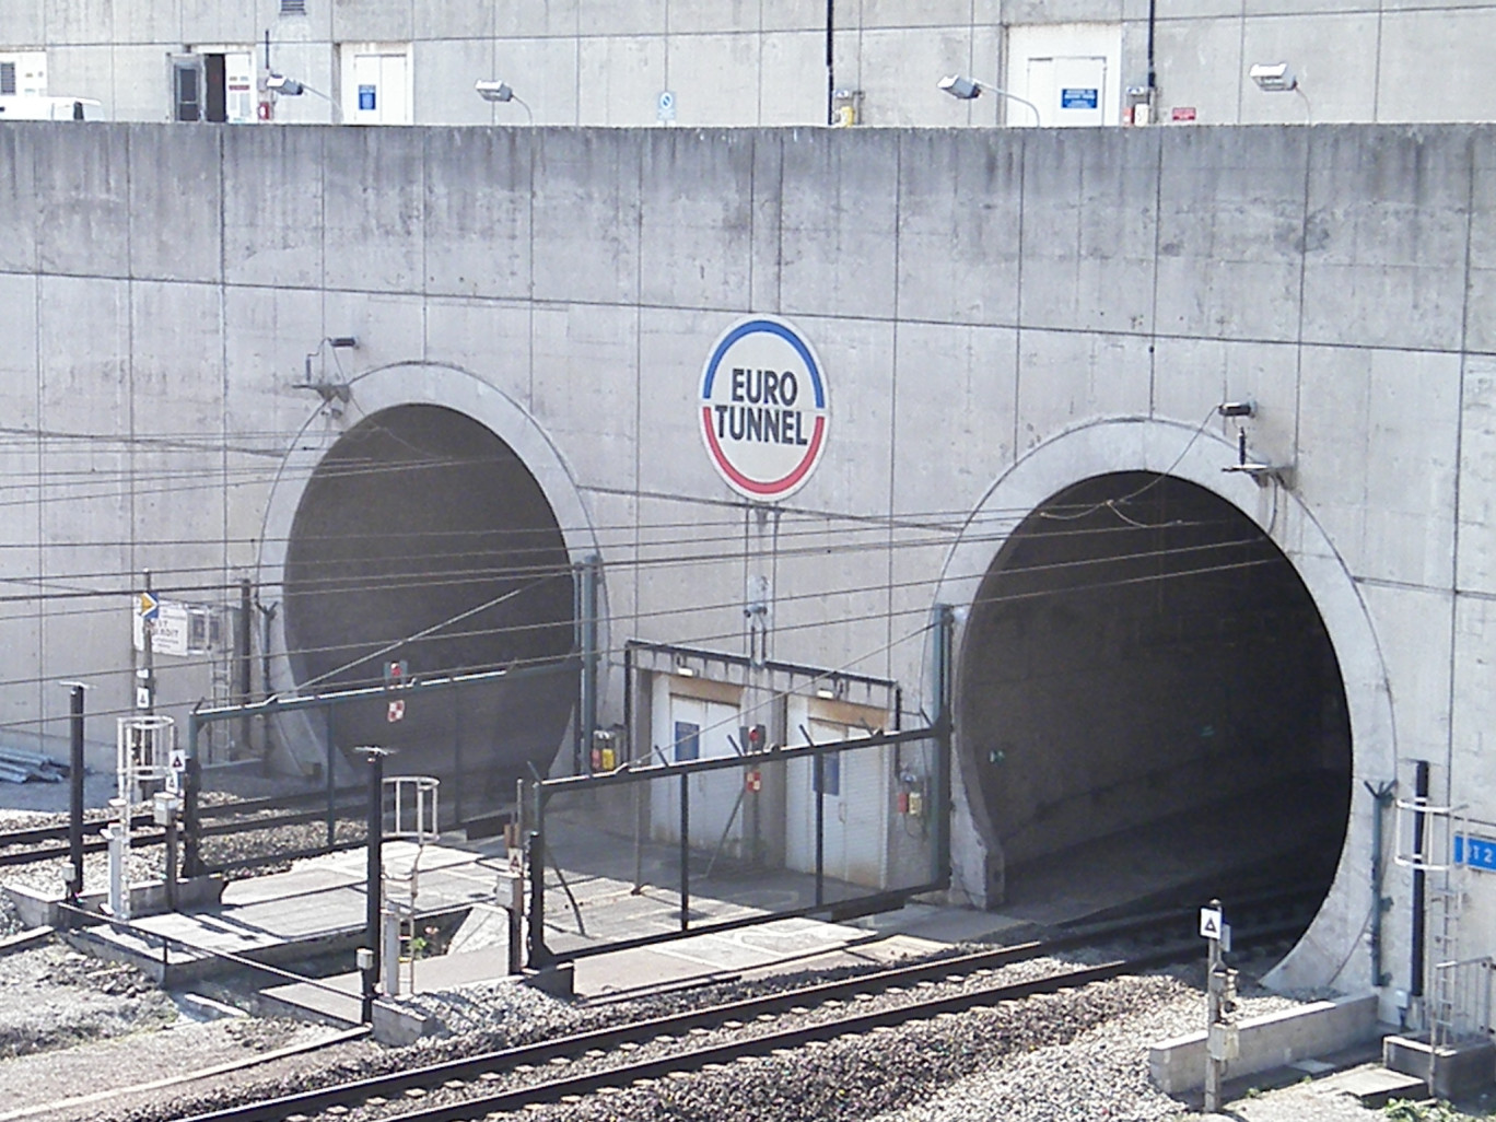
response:
M27 818L7 823L6 817L0 817L0 829L36 823L33 815ZM159 872L154 868L157 856L145 851L136 857L139 868L133 875L144 878ZM102 887L103 869L102 856L88 857L88 887ZM24 881L40 890L54 890L63 875L66 863L48 862L0 871L0 883ZM0 904L0 932L18 926L13 911ZM998 978L972 975L941 986L962 989L995 980L1019 981L1061 965L1038 959L1007 966ZM275 1049L326 1040L331 1031L256 1019L199 1025L181 1016L168 995L157 992L133 969L96 962L52 941L0 956L0 1086L22 1089L0 1101L0 1122L18 1110L79 1097L84 1101L28 1118L43 1122L165 1122L251 1097L292 1094L473 1052L637 1022L687 1007L805 984L817 977L823 975L809 969L752 984L598 1007L557 1001L512 983L473 986L420 995L414 1004L440 1022L441 1035L405 1049L386 1049L373 1041L343 1043L220 1071L208 1080L169 1082L132 1092L127 1089L160 1083L163 1077L183 1077ZM1150 1086L1147 1047L1200 1028L1204 998L1198 983L1198 966L1122 977L1022 1004L913 1020L793 1053L681 1073L577 1103L533 1106L524 1116L557 1122L1183 1119L1191 1118L1185 1106ZM1246 1016L1294 1004L1249 987L1243 992L1248 993ZM890 993L857 1005L859 1011L872 1011L886 1002L913 999L913 993ZM788 1014L781 1023L832 1016L835 1010L830 1008L808 1010ZM775 1023L751 1022L741 1031L766 1032ZM718 1034L726 1037L732 1031L697 1034L693 1043ZM669 1056L681 1047L679 1041L664 1038L640 1043L628 1055L640 1059ZM612 1062L616 1059L583 1058L564 1070ZM545 1077L546 1071L537 1071L504 1077L491 1086L498 1089L512 1085L512 1080ZM426 1101L440 1101L450 1094L432 1089ZM103 1097L88 1100L88 1095ZM1285 1110L1297 1113L1272 1113L1279 1101ZM1287 1106L1290 1103L1291 1107ZM383 1109L356 1107L341 1118L344 1122L373 1122L401 1113L408 1106L408 1101L396 1101ZM1316 1101L1306 1089L1263 1095L1240 1107L1240 1118L1249 1122L1370 1122L1378 1118L1343 1098Z

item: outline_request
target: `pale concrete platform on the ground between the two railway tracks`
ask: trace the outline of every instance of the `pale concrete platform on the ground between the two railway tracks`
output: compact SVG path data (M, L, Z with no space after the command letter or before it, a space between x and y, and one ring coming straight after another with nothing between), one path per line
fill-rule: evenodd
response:
M458 911L468 917L447 954L416 963L414 992L452 990L507 977L507 917L500 901L507 896L510 881L503 877L509 871L503 841L428 845L419 856L417 922ZM669 887L646 883L634 892L631 847L621 851L594 838L568 856L574 860L564 869L567 890L560 887L557 871L548 871L546 938L552 950L597 950L679 929L679 898ZM416 848L408 842L386 842L387 871L408 871L414 857ZM1156 862L1135 857L1134 853L1140 875L1153 871L1147 884L1156 889ZM353 951L365 941L365 860L364 851L305 860L287 872L227 884L214 907L142 917L129 928L99 925L85 929L81 938L94 953L133 962L166 986L247 962L298 963L346 954L346 969L334 977L268 978L262 1001L266 1010L335 1025L358 1023L362 980L353 969ZM583 956L574 962L568 992L583 1001L607 1002L770 972L887 963L956 942L1026 939L1037 929L1123 907L1143 884L1138 877L1119 875L1115 863L1058 857L1043 871L1043 883L1029 880L1028 892L998 911L923 901L841 923L796 917L705 932ZM808 907L814 889L812 877L788 871L693 875L693 920L720 922ZM830 881L824 889L827 899L868 892ZM407 969L402 989L410 986ZM386 1038L407 1040L423 1031L420 1014L402 1011L398 998L381 1001L378 1013L396 1023L381 1034Z

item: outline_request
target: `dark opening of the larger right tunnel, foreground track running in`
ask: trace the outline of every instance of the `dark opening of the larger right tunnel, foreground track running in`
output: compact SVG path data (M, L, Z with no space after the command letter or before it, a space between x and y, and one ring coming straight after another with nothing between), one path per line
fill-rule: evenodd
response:
M1056 869L1134 899L1328 892L1351 797L1339 663L1293 564L1201 486L1116 473L1028 515L972 604L959 721L989 898L1058 892Z

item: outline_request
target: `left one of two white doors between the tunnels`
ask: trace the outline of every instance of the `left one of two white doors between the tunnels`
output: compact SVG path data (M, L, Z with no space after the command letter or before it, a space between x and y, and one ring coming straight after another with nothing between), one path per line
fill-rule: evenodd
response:
M664 733L667 744L661 745L661 751L670 763L736 755L730 738L738 736L738 708L672 694ZM711 856L721 845L726 856L741 854L744 812L738 796L742 784L744 772L739 767L702 772L687 779L693 850ZM678 842L681 841L679 779L657 781L657 787L664 790L651 791L651 835L655 841Z

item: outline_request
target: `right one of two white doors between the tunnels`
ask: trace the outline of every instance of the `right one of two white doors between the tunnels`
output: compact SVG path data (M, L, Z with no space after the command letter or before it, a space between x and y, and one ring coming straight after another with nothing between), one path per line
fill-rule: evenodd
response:
M808 730L815 744L862 741L869 735L866 729L817 720L809 721ZM889 829L886 755L883 748L827 752L821 757L820 788L812 760L790 766L785 851L791 869L815 872L815 805L821 799L824 875L865 887L883 886Z

